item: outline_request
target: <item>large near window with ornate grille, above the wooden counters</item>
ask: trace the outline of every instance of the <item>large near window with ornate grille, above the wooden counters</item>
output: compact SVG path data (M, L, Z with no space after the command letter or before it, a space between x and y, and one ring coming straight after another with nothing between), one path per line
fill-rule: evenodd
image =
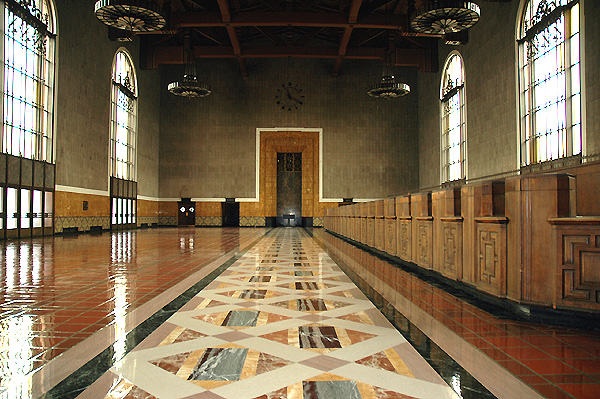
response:
M581 154L579 40L579 1L525 1L518 38L521 166Z

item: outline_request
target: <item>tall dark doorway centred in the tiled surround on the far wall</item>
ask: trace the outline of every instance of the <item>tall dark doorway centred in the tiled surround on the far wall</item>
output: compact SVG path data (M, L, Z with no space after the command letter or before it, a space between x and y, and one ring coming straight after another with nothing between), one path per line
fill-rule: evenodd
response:
M302 153L277 153L277 226L302 226Z

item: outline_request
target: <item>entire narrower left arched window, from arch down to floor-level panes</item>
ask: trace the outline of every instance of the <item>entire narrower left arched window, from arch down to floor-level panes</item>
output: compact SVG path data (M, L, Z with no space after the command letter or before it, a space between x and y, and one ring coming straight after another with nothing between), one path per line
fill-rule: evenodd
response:
M131 56L124 49L115 55L111 90L111 224L134 226L137 206L137 80Z

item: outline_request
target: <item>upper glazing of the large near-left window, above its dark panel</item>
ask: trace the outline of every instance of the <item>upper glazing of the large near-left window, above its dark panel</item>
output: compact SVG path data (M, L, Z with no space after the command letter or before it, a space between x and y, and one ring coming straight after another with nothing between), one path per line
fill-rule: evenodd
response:
M47 0L5 0L2 152L53 162L54 39Z

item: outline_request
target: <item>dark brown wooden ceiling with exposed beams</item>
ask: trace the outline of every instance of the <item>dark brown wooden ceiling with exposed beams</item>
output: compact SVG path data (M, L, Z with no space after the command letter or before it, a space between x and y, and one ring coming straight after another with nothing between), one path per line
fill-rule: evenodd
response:
M482 0L479 0L482 1ZM510 1L510 0L487 0ZM160 2L159 2L160 3ZM234 58L247 76L251 58L329 58L337 76L344 60L383 60L437 70L440 36L410 29L423 0L164 0L167 25L141 36L142 67L185 62L189 34L196 59ZM485 16L482 16L485 18ZM112 32L113 35L115 32Z

